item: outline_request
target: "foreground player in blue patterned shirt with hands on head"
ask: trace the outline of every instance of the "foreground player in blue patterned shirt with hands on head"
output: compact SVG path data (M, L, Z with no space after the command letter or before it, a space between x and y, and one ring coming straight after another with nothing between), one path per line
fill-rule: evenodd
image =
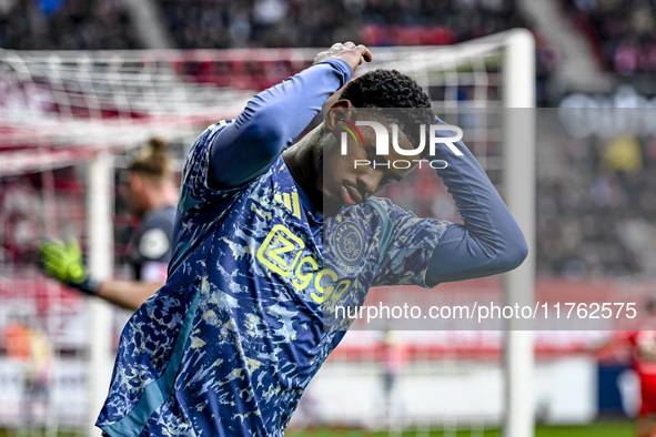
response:
M364 45L336 43L196 139L169 277L123 331L97 421L105 435L282 437L350 323L324 329L326 301L357 304L371 286L434 286L524 260L517 224L462 142L462 155L450 154L440 175L464 226L420 220L372 196L410 171L353 167L375 146L372 129L340 154L341 123L364 114L356 108L420 108L415 118L435 122L428 96L406 75L377 70L354 79L324 122L285 150L363 59L372 60ZM403 149L413 134L400 132ZM437 149L435 159L450 153ZM346 233L349 241L340 238Z

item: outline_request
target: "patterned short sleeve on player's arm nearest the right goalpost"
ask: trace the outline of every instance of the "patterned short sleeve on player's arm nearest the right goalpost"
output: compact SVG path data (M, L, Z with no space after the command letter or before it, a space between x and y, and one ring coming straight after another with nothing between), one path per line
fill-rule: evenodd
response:
M392 222L387 242L381 242L381 260L373 286L418 285L425 282L428 261L437 242L452 223L438 218L418 218L388 200L379 202Z

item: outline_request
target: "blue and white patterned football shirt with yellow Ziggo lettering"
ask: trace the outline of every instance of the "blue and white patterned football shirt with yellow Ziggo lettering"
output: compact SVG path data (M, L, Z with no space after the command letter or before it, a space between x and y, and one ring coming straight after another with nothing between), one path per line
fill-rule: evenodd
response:
M216 149L236 141L231 129L250 129L268 102L287 108L285 99L295 95L304 112L294 121L296 132L283 132L284 146L350 73L343 61L314 65L196 139L185 161L169 278L122 333L97 423L104 433L283 436L303 390L351 323L331 308L361 305L375 285L426 286L441 238L452 233L442 241L448 247L457 232L467 232L375 197L324 221L279 155L280 145L246 183L219 190L211 182L222 164ZM464 159L475 163L467 153ZM226 149L221 156L229 154ZM463 183L462 175L452 176ZM494 221L485 226L497 234ZM472 247L466 256L476 254Z

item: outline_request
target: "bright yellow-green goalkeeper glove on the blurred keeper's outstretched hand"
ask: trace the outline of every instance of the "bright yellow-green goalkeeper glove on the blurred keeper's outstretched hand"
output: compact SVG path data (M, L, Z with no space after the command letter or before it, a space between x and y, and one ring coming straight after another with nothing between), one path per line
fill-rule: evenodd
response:
M38 257L39 267L48 276L84 294L98 293L101 283L89 276L75 238L70 238L67 245L60 240L44 241L39 244Z

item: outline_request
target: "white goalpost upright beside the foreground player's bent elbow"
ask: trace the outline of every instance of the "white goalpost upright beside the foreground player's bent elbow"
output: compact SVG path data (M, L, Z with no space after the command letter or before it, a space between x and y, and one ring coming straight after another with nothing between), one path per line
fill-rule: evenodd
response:
M505 201L528 245L528 256L504 277L506 303L533 306L535 287L535 42L528 31L506 39L504 64L504 180ZM506 417L504 437L535 435L533 333L508 319L504 348Z

